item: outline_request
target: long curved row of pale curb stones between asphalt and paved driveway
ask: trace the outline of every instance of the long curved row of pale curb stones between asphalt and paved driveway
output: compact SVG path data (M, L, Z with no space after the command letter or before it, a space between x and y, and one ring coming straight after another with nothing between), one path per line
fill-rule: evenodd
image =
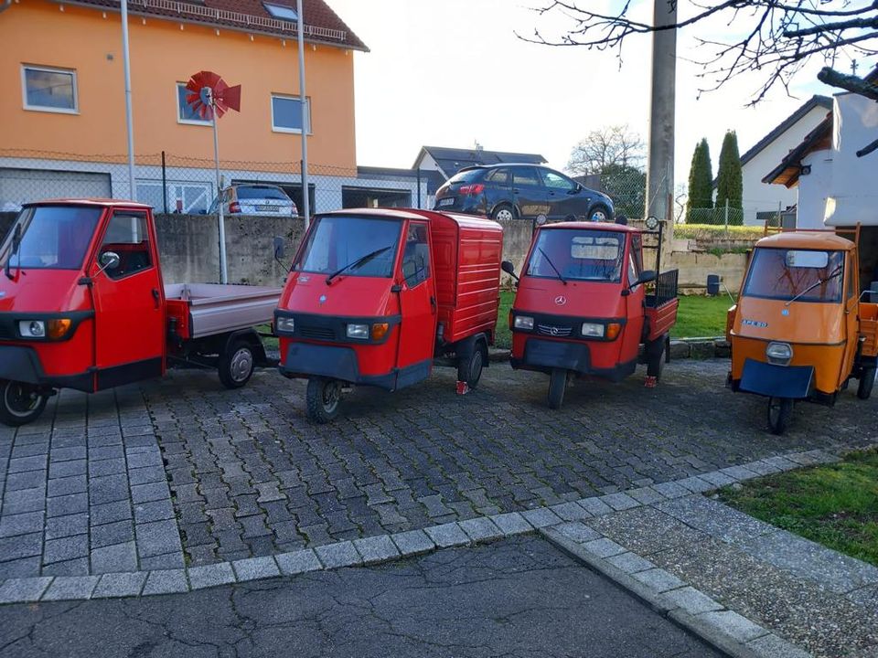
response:
M0 582L0 604L177 594L236 582L294 576L321 569L380 565L403 557L432 553L440 548L482 544L506 537L530 534L543 528L553 527L562 532L567 525L576 525L574 522L587 521L594 516L634 509L692 493L711 491L717 488L716 483L744 482L759 477L759 473L790 471L815 463L837 462L839 459L838 454L828 450L792 452L733 466L722 471L693 475L674 482L629 489L626 492L606 493L521 512L479 516L392 535L369 536L289 553L247 557L233 562L218 562L200 567L114 572L90 576L9 578ZM551 538L553 541L556 540L555 535ZM613 544L608 539L603 541ZM616 554L623 552L625 549L618 547ZM627 588L627 581L622 586ZM637 589L632 591L637 592ZM681 616L682 612L677 614Z

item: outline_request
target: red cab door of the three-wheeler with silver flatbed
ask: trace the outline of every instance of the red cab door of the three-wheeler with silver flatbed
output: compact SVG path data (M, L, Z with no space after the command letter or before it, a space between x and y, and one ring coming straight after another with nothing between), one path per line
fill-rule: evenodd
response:
M163 374L165 295L153 223L145 210L114 209L91 262L96 389Z

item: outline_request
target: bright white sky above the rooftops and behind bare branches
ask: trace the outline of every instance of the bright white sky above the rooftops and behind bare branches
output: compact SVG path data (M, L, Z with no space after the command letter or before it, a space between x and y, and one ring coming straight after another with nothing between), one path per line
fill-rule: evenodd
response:
M581 0L616 6L616 0ZM648 136L650 37L616 51L552 48L516 36L557 34L563 16L539 17L543 0L327 0L369 47L356 53L358 164L411 167L423 145L542 154L563 170L573 145L592 130L628 124ZM652 3L635 0L648 19ZM713 26L733 31L734 26ZM703 34L703 32L702 32ZM675 178L685 182L702 137L714 172L723 135L738 133L743 154L813 93L832 90L798 78L789 98L777 90L745 107L758 78L739 79L698 99L691 32L678 40ZM701 83L703 84L703 82Z

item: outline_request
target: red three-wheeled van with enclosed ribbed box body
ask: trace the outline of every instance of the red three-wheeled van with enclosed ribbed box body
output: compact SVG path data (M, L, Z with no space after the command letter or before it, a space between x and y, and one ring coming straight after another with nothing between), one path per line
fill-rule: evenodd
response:
M351 385L396 390L448 357L476 387L494 342L502 228L414 209L318 215L274 313L280 370L306 377L316 422Z

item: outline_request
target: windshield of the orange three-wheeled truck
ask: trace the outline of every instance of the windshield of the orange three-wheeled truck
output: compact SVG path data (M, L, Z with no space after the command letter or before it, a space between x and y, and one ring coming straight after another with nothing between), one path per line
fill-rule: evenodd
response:
M797 302L841 302L843 266L843 251L755 249L744 295L785 302L798 295Z

